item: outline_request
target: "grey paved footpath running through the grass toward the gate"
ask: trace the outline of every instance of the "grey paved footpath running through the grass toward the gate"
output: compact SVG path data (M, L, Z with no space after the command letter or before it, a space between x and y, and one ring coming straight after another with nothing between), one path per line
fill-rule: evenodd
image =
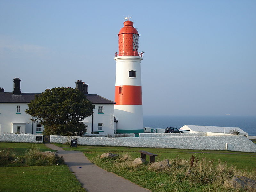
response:
M58 155L63 156L65 164L88 192L150 192L123 177L101 169L91 163L80 151L64 151L54 144L45 145L58 150Z

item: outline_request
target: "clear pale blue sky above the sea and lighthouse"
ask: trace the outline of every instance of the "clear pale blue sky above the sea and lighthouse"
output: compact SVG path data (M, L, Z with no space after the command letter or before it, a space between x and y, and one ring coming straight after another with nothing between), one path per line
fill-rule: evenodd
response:
M144 115L256 116L256 1L0 1L0 87L89 84L114 100L117 34L137 28Z

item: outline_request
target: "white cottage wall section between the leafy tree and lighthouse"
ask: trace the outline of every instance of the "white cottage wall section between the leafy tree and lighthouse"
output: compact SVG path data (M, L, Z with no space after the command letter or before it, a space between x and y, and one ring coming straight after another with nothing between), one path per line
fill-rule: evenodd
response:
M94 104L93 116L85 118L83 122L88 126L87 133L100 131L102 134L114 134L114 104ZM103 106L103 113L98 113L99 106ZM98 129L98 123L103 123L102 130Z

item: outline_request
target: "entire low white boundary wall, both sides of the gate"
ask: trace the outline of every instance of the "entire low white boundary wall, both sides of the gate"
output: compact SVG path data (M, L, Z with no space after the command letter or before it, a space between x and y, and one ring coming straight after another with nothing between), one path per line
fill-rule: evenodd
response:
M180 134L180 133L179 133ZM1 133L0 142L29 142L36 141L36 136L26 134ZM109 145L150 148L178 148L194 150L228 150L256 153L256 145L244 137L238 136L171 136L171 137L70 137L51 135L51 143L70 143L75 138L80 145Z

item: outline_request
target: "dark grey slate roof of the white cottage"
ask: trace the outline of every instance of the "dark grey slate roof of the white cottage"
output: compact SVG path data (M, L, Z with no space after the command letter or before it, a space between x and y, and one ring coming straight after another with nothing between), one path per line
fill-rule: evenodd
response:
M30 103L35 99L35 95L41 93L21 93L21 95L13 95L13 93L0 92L0 103ZM100 95L86 94L86 97L93 104L116 104L114 101L108 100Z

